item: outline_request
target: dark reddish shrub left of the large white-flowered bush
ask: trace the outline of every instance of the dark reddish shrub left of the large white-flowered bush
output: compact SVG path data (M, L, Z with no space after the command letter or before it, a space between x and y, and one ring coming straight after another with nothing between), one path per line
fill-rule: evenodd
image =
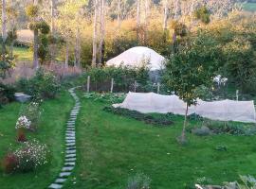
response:
M8 153L3 160L4 172L9 174L15 171L18 165L17 157L13 153Z

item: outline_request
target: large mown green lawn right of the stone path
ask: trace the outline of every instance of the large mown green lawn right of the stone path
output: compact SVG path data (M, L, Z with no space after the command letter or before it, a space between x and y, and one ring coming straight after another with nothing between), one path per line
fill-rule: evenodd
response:
M156 128L134 119L103 112L105 106L82 98L78 117L78 163L64 188L120 189L130 176L143 172L157 189L189 188L200 178L212 184L239 175L256 176L256 136L188 133L180 146L182 117L170 128ZM196 123L194 123L196 124ZM227 146L227 151L216 150Z

